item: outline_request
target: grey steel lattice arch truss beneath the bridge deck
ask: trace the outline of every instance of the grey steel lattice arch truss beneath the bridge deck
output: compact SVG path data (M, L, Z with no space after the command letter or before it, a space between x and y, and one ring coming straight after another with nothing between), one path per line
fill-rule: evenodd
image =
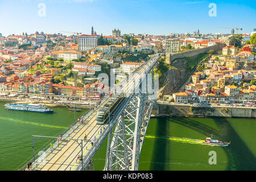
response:
M138 93L133 94L123 109L114 132L109 133L106 171L138 171L139 156L154 105L152 100L148 100L148 94L144 92L146 86L142 83L138 86Z

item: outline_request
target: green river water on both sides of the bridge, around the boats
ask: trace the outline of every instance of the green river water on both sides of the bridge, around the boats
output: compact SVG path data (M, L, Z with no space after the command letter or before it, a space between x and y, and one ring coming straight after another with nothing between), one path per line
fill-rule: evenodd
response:
M59 136L73 123L72 111L54 107L53 114L5 110L0 102L0 170L15 170L32 156L32 135ZM86 110L76 112L76 118ZM139 170L255 170L255 119L151 118ZM231 141L228 147L208 146L198 139L213 133ZM35 151L49 143L41 138ZM93 158L94 169L105 166L107 139ZM210 151L217 164L210 165Z

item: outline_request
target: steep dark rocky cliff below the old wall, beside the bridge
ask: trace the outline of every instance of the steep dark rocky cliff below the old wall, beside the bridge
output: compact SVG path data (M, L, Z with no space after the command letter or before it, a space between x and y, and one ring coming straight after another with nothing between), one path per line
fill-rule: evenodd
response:
M163 99L164 95L171 95L187 76L185 68L187 64L183 59L177 59L172 64L175 68L169 69L159 78L158 99Z

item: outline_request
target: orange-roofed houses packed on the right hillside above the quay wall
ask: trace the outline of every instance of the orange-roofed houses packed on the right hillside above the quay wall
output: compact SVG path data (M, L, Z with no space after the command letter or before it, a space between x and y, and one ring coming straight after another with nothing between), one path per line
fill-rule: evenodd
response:
M227 51L227 49L232 49ZM195 72L191 82L185 85L184 92L172 94L177 103L255 103L255 85L250 81L256 80L253 69L255 57L246 45L241 52L237 48L226 46L222 49L225 54L212 56L204 63L204 70ZM231 55L228 55L229 53ZM241 69L238 69L241 68Z

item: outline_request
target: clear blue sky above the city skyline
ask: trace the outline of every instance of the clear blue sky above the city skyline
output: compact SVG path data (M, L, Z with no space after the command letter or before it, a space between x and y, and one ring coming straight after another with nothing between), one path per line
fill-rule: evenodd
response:
M46 6L46 16L38 15L39 3ZM216 4L217 16L209 16L210 3ZM255 19L255 0L0 0L4 36L35 31L90 34L92 26L103 35L111 35L113 28L121 34L230 32L219 27L240 27L248 33L256 28Z

